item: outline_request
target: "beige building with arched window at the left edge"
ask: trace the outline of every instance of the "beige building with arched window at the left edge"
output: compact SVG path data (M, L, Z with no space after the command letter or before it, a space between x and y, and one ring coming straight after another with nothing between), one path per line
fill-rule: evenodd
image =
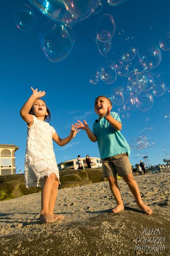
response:
M15 151L14 144L0 144L0 176L15 174Z

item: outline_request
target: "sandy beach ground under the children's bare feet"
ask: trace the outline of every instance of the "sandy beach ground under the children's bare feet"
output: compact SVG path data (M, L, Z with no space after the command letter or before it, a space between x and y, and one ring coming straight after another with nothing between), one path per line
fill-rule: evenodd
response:
M60 189L55 213L63 221L41 224L40 193L0 202L0 255L170 255L170 172L135 176L148 216L119 180L125 210L111 213L108 182ZM146 229L146 233L142 235ZM137 240L136 240L137 239Z

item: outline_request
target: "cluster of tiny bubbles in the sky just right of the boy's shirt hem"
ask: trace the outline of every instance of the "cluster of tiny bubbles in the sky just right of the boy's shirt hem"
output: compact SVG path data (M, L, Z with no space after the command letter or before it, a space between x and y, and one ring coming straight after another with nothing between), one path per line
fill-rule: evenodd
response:
M129 142L130 149L135 151L133 157L139 159L141 157L148 157L149 154L145 150L149 150L155 146L154 140L146 134L141 134L139 137L133 137ZM143 151L143 152L142 152Z

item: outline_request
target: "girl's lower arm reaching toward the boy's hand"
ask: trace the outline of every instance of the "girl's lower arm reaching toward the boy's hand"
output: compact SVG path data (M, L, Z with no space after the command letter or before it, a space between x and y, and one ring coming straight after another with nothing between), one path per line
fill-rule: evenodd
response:
M80 131L80 130L79 130ZM79 132L77 131L77 128L75 127L75 125L72 124L71 126L71 132L69 134L68 137L66 137L65 139L61 139L57 132L55 132L53 134L53 140L59 145L59 146L64 146L66 144L68 144L75 136L76 134Z

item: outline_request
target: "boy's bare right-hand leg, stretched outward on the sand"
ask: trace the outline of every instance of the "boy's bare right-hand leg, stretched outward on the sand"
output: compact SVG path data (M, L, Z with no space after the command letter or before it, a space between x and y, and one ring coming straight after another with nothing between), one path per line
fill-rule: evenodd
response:
M134 179L133 175L130 173L130 174L124 175L122 177L125 180L125 182L127 183L127 185L129 186L129 189L132 192L132 194L136 200L136 204L139 206L139 208L142 209L142 211L148 215L152 214L152 209L150 207L148 207L146 204L144 204L144 202L142 201L138 185L137 185L136 180Z

